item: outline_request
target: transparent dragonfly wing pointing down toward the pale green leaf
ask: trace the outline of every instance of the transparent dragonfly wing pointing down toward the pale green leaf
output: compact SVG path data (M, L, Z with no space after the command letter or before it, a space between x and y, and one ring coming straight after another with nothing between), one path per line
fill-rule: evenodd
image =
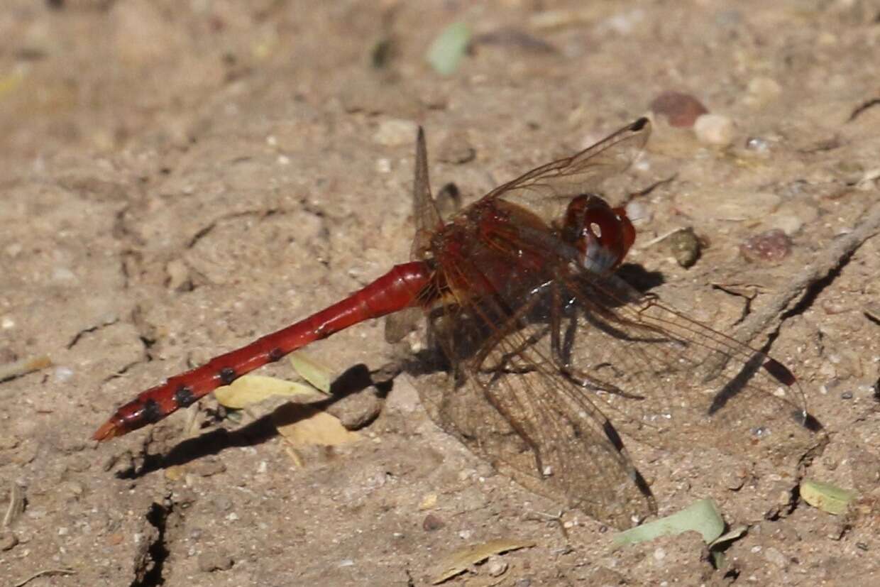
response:
M533 296L537 308L543 300ZM561 375L530 305L525 299L511 314L498 298L484 299L436 317L459 371L439 384L439 397L428 391L435 385L420 385L422 402L443 429L525 488L606 524L634 525L656 512L648 484L612 423Z

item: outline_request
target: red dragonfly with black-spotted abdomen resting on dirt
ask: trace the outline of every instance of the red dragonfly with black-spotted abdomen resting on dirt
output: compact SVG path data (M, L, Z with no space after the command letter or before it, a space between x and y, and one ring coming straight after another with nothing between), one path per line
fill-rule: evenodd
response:
M433 373L432 385L422 385L432 393L422 401L435 421L526 488L617 527L656 512L622 437L688 442L700 424L723 424L759 444L771 433L815 429L781 363L614 273L635 231L625 207L612 207L597 189L627 169L649 134L647 119L634 121L496 187L444 224L420 128L412 261L148 389L94 438L158 422L312 341L408 308L428 317L435 352L422 357L433 362L423 371Z

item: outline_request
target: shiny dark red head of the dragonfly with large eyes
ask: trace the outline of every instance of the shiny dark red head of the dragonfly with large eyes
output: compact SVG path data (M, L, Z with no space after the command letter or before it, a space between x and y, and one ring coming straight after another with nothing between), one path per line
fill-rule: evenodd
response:
M562 238L575 246L583 268L605 275L620 266L635 241L635 229L622 206L612 208L595 194L568 204Z

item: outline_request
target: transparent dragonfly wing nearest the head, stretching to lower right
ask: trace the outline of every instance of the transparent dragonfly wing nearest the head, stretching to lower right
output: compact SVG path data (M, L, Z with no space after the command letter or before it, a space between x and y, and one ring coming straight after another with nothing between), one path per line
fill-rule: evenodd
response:
M615 275L572 283L578 310L560 337L562 362L627 436L664 446L700 437L765 453L815 442L803 391L781 363Z

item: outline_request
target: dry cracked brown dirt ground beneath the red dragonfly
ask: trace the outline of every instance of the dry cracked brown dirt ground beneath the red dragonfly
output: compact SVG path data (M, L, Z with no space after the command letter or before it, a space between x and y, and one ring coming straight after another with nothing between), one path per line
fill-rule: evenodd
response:
M454 22L473 44L444 77L424 55ZM880 200L877 2L4 0L0 33L0 363L53 363L0 382L0 583L422 585L458 547L522 539L450 584L880 584L880 238L859 232ZM672 179L630 261L741 338L770 308L752 344L828 435L794 472L657 457L660 515L710 497L748 526L724 568L691 533L612 551L438 429L418 378L364 383L395 356L380 321L311 351L363 388L345 410L381 408L356 443L294 459L278 402L233 419L212 398L90 440L144 388L407 260L414 123L435 187L468 202L669 90L734 134L657 116L627 181ZM707 245L687 269L657 239L684 227ZM746 260L774 228L788 255ZM801 475L860 507L810 507Z

